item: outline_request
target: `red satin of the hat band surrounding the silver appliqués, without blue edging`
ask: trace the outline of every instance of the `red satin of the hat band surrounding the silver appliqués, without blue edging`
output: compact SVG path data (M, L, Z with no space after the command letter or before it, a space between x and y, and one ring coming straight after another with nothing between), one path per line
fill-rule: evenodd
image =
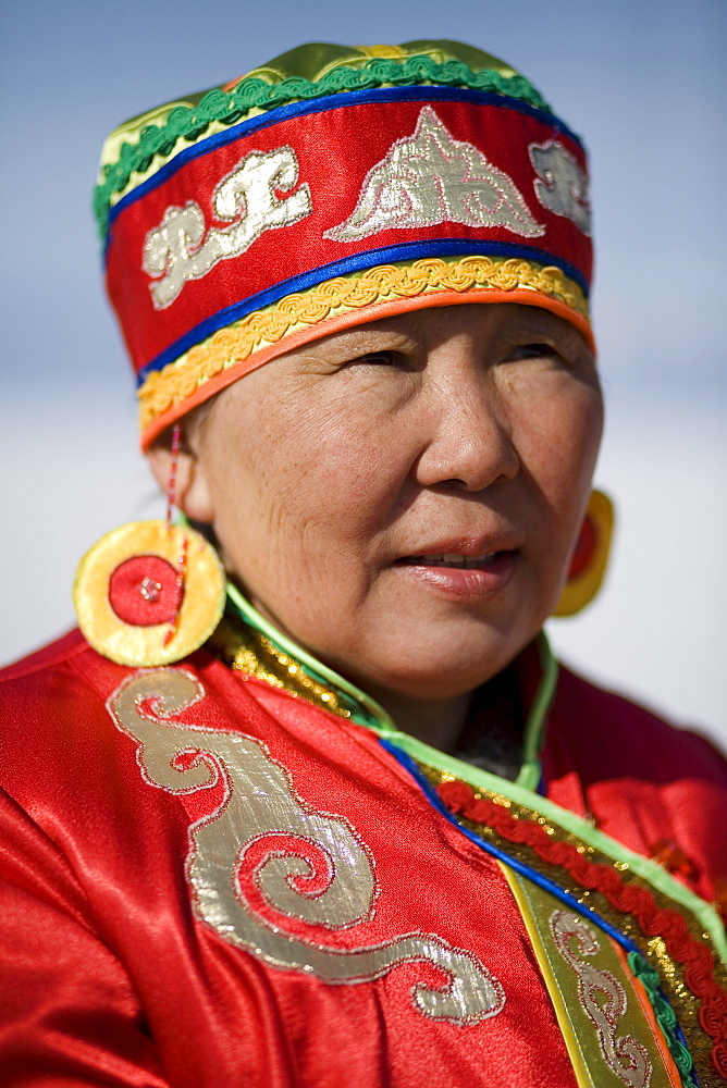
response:
M193 159L163 184L125 206L109 235L107 282L135 370L138 372L181 336L230 306L322 265L387 246L457 238L480 243L482 248L477 251L488 254L488 244L504 242L525 250L544 250L556 262L559 259L575 265L590 281L591 239L569 219L539 202L533 188L537 174L528 153L529 144L557 138L586 169L582 148L544 121L505 106L427 103L426 95L424 89L421 101L369 102L279 121ZM424 104L431 107L454 139L472 144L512 178L535 222L545 228L542 235L523 237L504 227L447 222L416 230L379 231L353 243L323 237L325 231L354 211L367 174L392 145L414 135ZM189 280L174 301L155 309L149 290L155 281L143 268L147 234L161 224L168 208L184 208L189 200L199 205L206 230L229 226L214 218L215 187L249 152L281 147L292 147L299 164L298 182L289 193L308 185L312 212L297 223L264 231L238 257L221 260L200 279ZM284 195L289 195L288 190ZM539 259L538 254L533 259ZM390 261L371 252L365 265Z

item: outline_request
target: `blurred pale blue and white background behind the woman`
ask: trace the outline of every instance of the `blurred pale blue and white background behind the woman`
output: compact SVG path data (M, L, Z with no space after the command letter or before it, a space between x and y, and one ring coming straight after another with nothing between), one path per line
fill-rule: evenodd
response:
M605 592L554 621L591 678L727 744L725 0L0 0L0 664L72 625L79 556L160 517L100 286L107 132L301 41L458 38L520 69L591 153L616 500Z

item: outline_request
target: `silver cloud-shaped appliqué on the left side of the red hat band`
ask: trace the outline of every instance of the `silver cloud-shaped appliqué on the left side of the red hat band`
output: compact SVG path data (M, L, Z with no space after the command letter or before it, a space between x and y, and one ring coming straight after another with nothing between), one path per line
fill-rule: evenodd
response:
M291 226L309 215L313 206L308 184L291 193L297 181L298 160L292 147L250 151L212 196L215 218L230 226L211 226L205 236L198 203L169 207L144 243L144 271L156 281L149 284L155 309L170 306L188 280L199 280L219 261L244 254L264 231ZM276 191L289 196L281 198Z

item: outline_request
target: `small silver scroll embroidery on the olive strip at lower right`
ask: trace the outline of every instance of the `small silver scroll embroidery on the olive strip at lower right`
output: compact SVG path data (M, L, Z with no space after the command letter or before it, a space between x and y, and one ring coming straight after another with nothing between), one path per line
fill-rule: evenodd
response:
M595 934L569 911L555 911L550 927L558 952L578 976L578 997L597 1031L603 1060L630 1088L649 1088L652 1063L645 1047L633 1036L616 1034L627 1009L624 987L609 972L583 960L601 951Z

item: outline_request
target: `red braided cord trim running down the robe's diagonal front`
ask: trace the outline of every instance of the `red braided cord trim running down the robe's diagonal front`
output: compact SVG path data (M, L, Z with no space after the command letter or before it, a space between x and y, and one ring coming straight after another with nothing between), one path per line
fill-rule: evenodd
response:
M679 911L660 906L649 887L627 883L617 868L591 861L576 842L551 837L540 821L518 818L504 804L480 795L465 782L442 781L436 792L452 813L464 817L476 829L493 829L507 842L532 850L541 861L567 873L588 892L599 892L616 912L626 917L630 915L639 927L642 941L649 943L661 937L666 952L682 970L687 990L699 1002L698 1023L691 1025L692 1031L701 1028L712 1044L712 1068L700 1068L700 1079L713 1084L716 1074L719 1080L727 1080L727 991L717 981L719 966L710 947L704 939L690 934L687 919ZM699 1046L698 1038L690 1036L690 1041ZM674 1058L681 1070L676 1054Z

